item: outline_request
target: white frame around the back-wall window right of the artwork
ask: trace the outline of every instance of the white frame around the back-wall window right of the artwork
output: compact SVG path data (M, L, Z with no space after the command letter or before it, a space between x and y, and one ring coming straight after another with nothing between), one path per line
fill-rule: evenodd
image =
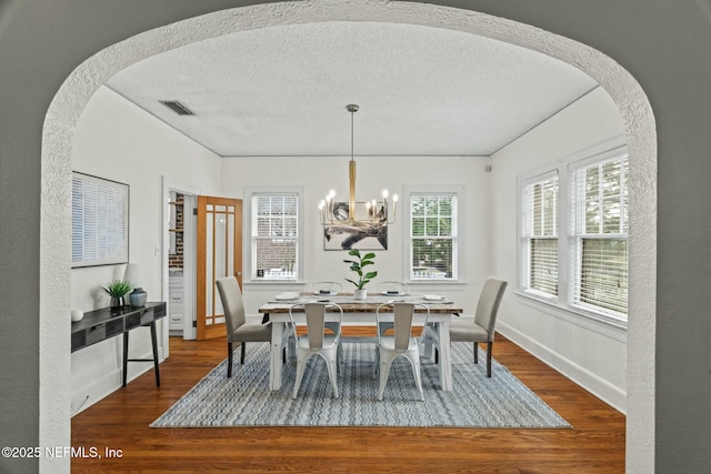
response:
M461 242L464 241L464 186L463 185L409 185L404 186L403 194L405 196L404 204L407 205L403 219L403 275L408 284L455 284L461 283L464 279L462 262L464 261L464 249ZM455 269L452 278L431 278L431 279L414 279L412 272L412 200L413 196L441 196L441 195L454 195L457 198L457 211L455 215L452 215L455 224L452 225L455 229L455 235L452 236L452 266Z

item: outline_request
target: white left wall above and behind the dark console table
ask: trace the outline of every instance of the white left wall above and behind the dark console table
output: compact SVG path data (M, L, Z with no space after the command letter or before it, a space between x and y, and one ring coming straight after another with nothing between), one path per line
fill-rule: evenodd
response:
M162 177L218 192L220 158L102 87L83 110L74 134L72 170L129 184L129 260L139 264L139 281L149 301L162 294ZM109 304L99 285L122 278L126 265L73 269L71 307L91 311ZM159 333L162 324L159 323ZM164 354L159 337L159 353ZM151 357L150 332L131 332L131 357ZM94 344L71 356L72 412L86 409L121 385L122 337ZM129 380L151 370L129 363Z

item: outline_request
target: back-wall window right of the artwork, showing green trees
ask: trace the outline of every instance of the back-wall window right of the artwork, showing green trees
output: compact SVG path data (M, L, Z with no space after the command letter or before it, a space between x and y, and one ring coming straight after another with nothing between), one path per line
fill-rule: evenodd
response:
M410 194L410 279L458 278L458 194Z

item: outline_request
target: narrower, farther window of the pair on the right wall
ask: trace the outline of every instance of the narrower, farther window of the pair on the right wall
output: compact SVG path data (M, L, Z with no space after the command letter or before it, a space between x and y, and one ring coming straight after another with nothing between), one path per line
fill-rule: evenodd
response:
M558 174L523 185L521 288L558 296Z

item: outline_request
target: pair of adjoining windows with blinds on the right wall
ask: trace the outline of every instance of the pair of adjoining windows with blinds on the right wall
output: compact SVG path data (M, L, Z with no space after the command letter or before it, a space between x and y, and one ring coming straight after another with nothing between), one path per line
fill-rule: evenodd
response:
M628 155L621 138L519 180L519 219L522 295L627 323Z

